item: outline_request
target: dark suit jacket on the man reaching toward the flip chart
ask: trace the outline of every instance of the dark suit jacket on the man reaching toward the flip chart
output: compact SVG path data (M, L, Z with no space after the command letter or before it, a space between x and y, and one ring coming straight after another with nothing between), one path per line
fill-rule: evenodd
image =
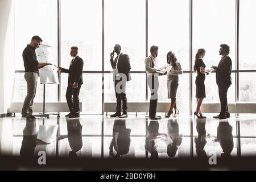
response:
M73 63L69 65L69 69L62 68L61 72L68 73L68 84L77 82L78 84L83 84L82 82L82 68L84 67L84 61L81 57L76 56Z

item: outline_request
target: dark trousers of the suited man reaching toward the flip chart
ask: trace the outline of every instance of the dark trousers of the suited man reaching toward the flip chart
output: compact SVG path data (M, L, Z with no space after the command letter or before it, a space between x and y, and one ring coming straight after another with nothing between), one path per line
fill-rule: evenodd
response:
M78 85L78 88L73 88L72 84L68 84L66 99L68 103L68 108L71 113L79 113L79 92L80 92L81 84Z

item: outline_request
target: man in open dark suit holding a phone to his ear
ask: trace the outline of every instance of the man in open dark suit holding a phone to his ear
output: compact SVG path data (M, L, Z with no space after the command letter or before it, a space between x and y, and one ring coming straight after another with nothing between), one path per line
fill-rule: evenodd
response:
M114 53L117 57L114 60ZM117 98L117 112L110 115L112 118L127 118L127 98L126 98L126 82L131 80L130 75L130 58L128 55L121 53L121 46L116 44L114 51L110 53L110 63L113 68L113 78L115 85L115 97ZM123 114L121 115L121 103L123 102Z

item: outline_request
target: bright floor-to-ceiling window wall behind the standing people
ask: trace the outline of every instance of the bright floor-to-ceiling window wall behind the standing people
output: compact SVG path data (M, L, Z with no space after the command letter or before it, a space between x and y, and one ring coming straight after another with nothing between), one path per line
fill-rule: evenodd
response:
M256 27L252 23L256 17L256 2L239 2L15 0L13 102L23 102L26 96L22 51L30 43L33 35L41 36L43 43L51 46L52 58L49 61L64 68L68 68L72 60L70 48L79 47L79 56L84 60L84 85L80 91L80 101L82 113L85 114L102 114L102 100L115 102L113 72L109 61L110 52L113 51L115 44L120 44L122 52L130 57L131 81L127 82L126 87L128 102L146 102L146 98L150 98L144 59L146 55L150 55L150 47L155 45L159 47L159 67L166 64L168 51L175 52L184 71L183 75L179 76L177 107L185 115L191 113L195 109L196 74L192 73L190 68L193 67L197 49L206 50L204 63L210 68L217 65L221 59L218 52L220 44L230 46L229 56L233 63L228 102L256 102L256 60L253 55ZM58 36L60 40L57 39ZM60 59L57 55L60 55ZM57 102L58 96L61 102L66 101L68 75L61 73L60 78L60 89L57 89L57 85L46 85L47 102ZM170 102L167 97L166 81L166 76L159 77L159 102ZM207 97L204 103L219 102L215 73L210 73L205 78L205 90ZM43 101L43 85L40 84L40 80L35 101Z

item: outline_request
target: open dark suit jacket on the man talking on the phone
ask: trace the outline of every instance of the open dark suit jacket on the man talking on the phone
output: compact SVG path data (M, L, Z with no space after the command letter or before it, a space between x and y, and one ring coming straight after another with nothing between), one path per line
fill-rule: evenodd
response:
M117 63L117 57L115 57L115 60L110 59L110 63L113 69L115 69L115 65L117 64L118 73L124 73L126 75L127 81L131 80L131 64L130 64L130 58L128 55L121 53L118 63Z

